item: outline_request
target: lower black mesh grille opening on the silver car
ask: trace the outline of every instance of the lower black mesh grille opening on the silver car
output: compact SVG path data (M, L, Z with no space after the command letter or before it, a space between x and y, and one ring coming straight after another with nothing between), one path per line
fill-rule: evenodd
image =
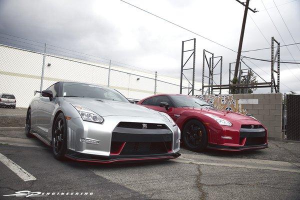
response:
M147 155L167 153L164 142L126 142L120 155Z

